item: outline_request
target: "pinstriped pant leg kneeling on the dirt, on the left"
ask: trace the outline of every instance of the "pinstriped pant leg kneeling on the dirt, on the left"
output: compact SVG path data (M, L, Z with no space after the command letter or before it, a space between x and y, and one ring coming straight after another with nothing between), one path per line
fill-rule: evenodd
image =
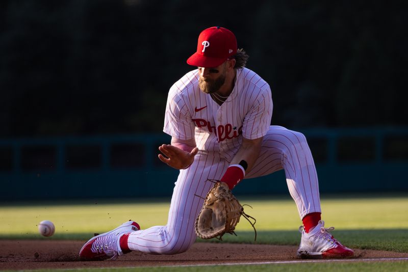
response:
M212 152L213 153L213 152ZM175 254L186 251L195 241L194 223L213 183L207 179L220 179L228 167L218 152L197 154L193 164L181 170L175 183L168 223L136 231L129 235L131 250Z

